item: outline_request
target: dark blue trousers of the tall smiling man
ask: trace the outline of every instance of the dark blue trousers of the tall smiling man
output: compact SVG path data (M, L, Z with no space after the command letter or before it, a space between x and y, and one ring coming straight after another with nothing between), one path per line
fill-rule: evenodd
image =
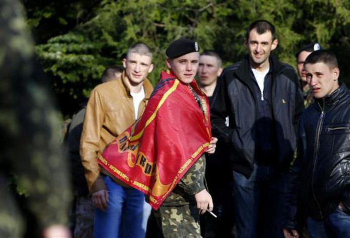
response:
M287 175L272 166L254 166L249 179L234 172L238 238L283 237L282 208Z

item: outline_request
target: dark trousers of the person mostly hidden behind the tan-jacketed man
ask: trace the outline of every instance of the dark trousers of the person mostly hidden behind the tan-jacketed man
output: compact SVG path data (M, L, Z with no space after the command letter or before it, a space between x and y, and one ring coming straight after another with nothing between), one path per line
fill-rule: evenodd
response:
M95 207L92 198L76 196L72 212L73 233L75 238L92 238Z

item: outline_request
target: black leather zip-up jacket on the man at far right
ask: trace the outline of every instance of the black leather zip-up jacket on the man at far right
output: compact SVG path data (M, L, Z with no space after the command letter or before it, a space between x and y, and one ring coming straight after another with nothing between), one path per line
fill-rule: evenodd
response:
M306 215L322 219L340 201L349 208L349 192L350 91L341 84L329 96L316 100L301 116L298 156L290 171L284 227L298 228L302 221L296 214L304 209Z

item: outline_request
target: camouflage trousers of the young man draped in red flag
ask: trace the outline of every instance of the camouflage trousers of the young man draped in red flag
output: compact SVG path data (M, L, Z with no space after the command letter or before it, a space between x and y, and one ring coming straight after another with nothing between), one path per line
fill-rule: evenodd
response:
M200 210L196 205L160 206L152 209L164 238L197 238L201 236Z

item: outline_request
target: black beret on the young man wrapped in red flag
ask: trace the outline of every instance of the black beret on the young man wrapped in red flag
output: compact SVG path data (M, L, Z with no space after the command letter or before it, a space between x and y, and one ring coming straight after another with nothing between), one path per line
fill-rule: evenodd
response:
M196 41L180 38L170 44L170 46L166 49L165 54L168 58L173 59L198 51L199 45Z

